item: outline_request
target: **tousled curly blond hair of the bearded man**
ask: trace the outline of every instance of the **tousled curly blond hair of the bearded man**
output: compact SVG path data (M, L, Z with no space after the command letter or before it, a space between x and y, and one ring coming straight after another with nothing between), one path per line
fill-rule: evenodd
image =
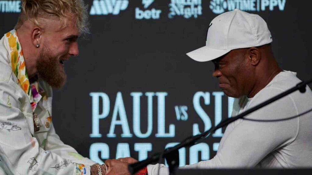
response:
M80 34L89 33L87 6L83 0L22 0L22 10L15 29L25 20L40 27L38 16L54 16L61 21L61 29L67 24L68 17L74 17Z

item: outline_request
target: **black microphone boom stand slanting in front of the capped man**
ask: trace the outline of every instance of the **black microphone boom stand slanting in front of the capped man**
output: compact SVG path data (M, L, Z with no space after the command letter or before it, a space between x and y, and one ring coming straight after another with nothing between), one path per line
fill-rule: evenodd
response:
M276 95L275 97L272 97L272 98L266 100L265 102L262 102L259 105L254 106L251 109L244 111L235 117L231 117L231 118L222 120L217 126L210 128L209 130L203 132L202 134L190 136L190 137L186 138L185 140L183 140L180 144L177 144L176 146L165 149L162 153L156 153L156 154L152 155L151 157L149 157L145 160L139 161L137 163L129 164L129 166L128 166L129 172L131 174L134 174L134 173L138 172L140 169L146 167L148 164L156 163L156 162L158 162L158 160L160 158L166 158L166 160L168 162L168 166L169 166L169 173L170 173L170 175L173 175L174 170L179 165L178 149L183 148L183 147L187 147L187 146L195 145L195 144L197 144L198 140L206 137L207 135L216 131L217 129L222 128L223 126L228 125L229 123L236 121L237 119L240 119L240 118L250 114L251 112L256 111L256 110L262 108L263 106L266 106L266 105L268 105L268 104L270 104L270 103L272 103L272 102L274 102L274 101L276 101L282 97L285 97L286 95L288 95L292 92L295 92L296 90L299 90L301 93L304 93L306 91L306 89L305 89L306 85L311 83L311 82L312 82L312 79L307 81L307 82L302 81L302 82L298 83L295 87L292 87L289 90L282 92L282 93Z

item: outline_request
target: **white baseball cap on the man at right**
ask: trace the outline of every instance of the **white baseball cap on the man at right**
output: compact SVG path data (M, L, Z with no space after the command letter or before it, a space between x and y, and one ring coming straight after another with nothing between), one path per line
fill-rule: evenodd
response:
M215 17L207 31L206 46L187 53L204 62L221 57L233 49L257 47L272 42L266 21L259 15L235 9Z

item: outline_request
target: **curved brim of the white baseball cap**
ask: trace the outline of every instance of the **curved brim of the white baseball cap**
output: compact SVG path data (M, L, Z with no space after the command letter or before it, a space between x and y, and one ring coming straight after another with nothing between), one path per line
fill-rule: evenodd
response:
M207 46L201 47L199 49L193 50L192 52L187 53L187 55L194 59L195 61L204 62L211 61L213 59L219 58L224 54L227 54L231 50L220 50L212 49Z

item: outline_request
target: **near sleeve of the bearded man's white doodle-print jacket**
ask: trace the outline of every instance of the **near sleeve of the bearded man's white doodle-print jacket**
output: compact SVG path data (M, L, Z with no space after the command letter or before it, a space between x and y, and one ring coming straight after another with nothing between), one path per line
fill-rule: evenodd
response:
M25 95L17 84L0 79L0 172L8 175L90 175L90 166L40 148L23 112Z

